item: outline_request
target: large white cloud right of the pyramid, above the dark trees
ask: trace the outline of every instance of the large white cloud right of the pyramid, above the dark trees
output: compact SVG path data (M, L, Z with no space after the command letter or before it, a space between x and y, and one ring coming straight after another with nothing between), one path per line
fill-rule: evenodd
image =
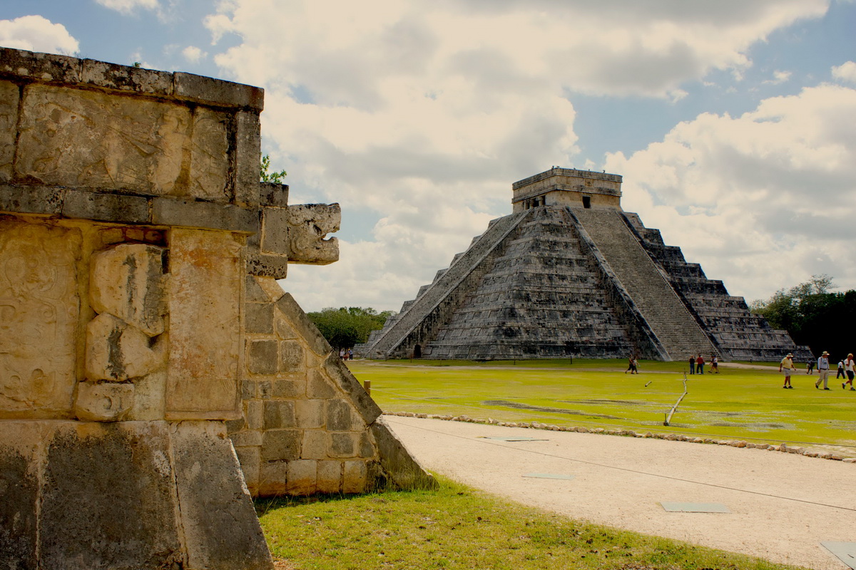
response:
M624 175L624 209L734 295L815 273L856 288L856 132L841 120L853 116L856 90L819 85L740 117L698 115L606 169Z

